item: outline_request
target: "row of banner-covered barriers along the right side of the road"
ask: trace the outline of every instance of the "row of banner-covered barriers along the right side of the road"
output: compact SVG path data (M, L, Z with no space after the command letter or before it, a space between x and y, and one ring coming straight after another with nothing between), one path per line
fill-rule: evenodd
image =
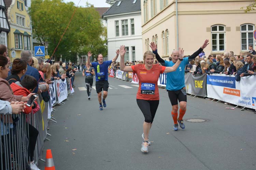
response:
M127 77L128 74L128 77ZM139 83L136 73L113 70L113 77L131 83ZM166 87L167 73L158 79L159 87ZM185 73L187 94L208 97L228 102L237 106L256 109L256 76L242 77L239 82L234 75L226 74L195 74Z

